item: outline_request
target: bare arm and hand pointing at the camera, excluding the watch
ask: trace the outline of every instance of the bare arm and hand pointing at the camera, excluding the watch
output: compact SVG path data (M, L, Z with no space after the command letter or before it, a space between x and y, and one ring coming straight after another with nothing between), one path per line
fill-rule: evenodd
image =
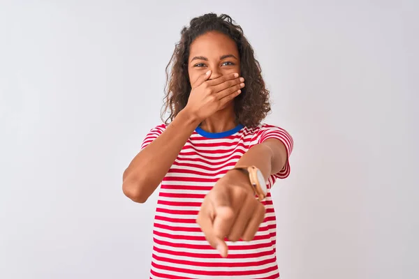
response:
M286 166L288 153L280 140L271 138L256 144L244 153L237 165L254 165L265 180ZM260 223L265 219L265 206L255 199L249 176L240 171L230 171L223 176L205 197L197 223L207 241L219 250L222 257L228 254L223 241L251 241Z

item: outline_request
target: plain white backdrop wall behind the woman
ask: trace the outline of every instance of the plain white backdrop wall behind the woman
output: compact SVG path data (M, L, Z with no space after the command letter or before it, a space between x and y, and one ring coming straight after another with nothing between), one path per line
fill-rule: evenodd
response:
M273 191L284 279L418 278L412 1L1 1L0 278L148 278L156 193L122 172L160 123L192 17L227 13L294 137Z

